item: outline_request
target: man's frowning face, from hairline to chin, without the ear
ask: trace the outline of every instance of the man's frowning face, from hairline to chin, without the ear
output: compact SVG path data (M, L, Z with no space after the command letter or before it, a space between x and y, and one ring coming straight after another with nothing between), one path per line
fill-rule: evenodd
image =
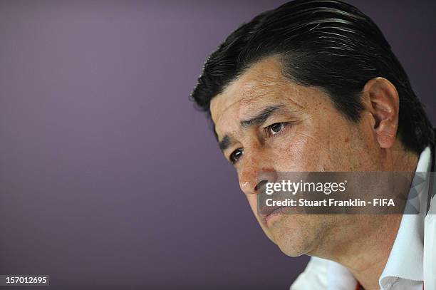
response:
M338 242L338 227L360 217L257 212L261 172L377 171L380 147L363 113L352 123L319 88L299 86L281 73L279 58L255 63L211 102L220 147L266 235L289 256L313 254ZM328 237L328 238L326 238Z

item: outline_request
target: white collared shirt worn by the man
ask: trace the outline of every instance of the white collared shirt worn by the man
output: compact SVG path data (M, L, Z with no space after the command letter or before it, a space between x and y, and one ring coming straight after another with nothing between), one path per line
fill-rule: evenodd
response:
M420 154L416 172L426 172L431 166L430 147ZM422 176L422 175L421 175ZM397 237L390 251L378 284L381 290L436 290L436 204L427 213L427 182L412 182L417 195L409 199L410 206L418 209L418 214L403 214ZM424 234L425 233L425 234ZM425 254L424 254L425 253ZM334 261L312 257L306 269L291 285L291 290L354 290L357 281L346 267Z

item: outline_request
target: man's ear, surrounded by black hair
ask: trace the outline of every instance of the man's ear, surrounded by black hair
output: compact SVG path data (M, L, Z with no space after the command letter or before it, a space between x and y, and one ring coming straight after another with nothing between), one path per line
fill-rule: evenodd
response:
M395 143L398 130L400 100L395 86L385 78L373 78L363 87L368 110L373 118L373 130L378 144L390 148Z

